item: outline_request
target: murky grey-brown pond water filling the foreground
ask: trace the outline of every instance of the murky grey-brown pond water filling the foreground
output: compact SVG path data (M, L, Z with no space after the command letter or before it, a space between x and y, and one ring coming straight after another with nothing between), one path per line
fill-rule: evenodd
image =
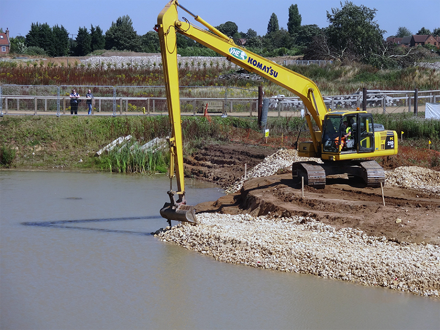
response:
M438 328L440 300L158 241L168 189L166 177L0 171L0 329ZM187 190L191 204L222 194Z

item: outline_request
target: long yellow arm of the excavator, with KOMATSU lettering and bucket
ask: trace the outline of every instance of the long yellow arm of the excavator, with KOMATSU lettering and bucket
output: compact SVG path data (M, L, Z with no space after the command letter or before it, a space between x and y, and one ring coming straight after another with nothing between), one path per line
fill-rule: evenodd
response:
M209 31L192 25L186 18L183 18L183 21L180 20L178 7L190 14L197 22L208 28ZM161 210L162 216L168 220L176 219L179 221L196 222L195 215L190 216L190 219L186 219L185 216L176 216L177 213L175 212L185 208L183 205L186 204L177 61L177 33L201 43L218 54L225 56L239 67L267 78L299 96L306 107L306 120L312 135L315 150L320 150L320 141L317 139L320 133L315 134L311 117L321 131L327 109L318 87L312 80L235 45L232 38L215 29L200 16L191 13L181 6L177 0L171 0L161 11L155 30L159 33L167 105L172 127L171 137L169 138L172 163L170 179L172 180L174 177L174 172L177 178L177 191L172 191L172 189L168 191L170 203L169 205L167 205L167 203ZM176 195L178 199L174 200ZM193 213L193 209L192 211L188 211L187 214L190 213Z

